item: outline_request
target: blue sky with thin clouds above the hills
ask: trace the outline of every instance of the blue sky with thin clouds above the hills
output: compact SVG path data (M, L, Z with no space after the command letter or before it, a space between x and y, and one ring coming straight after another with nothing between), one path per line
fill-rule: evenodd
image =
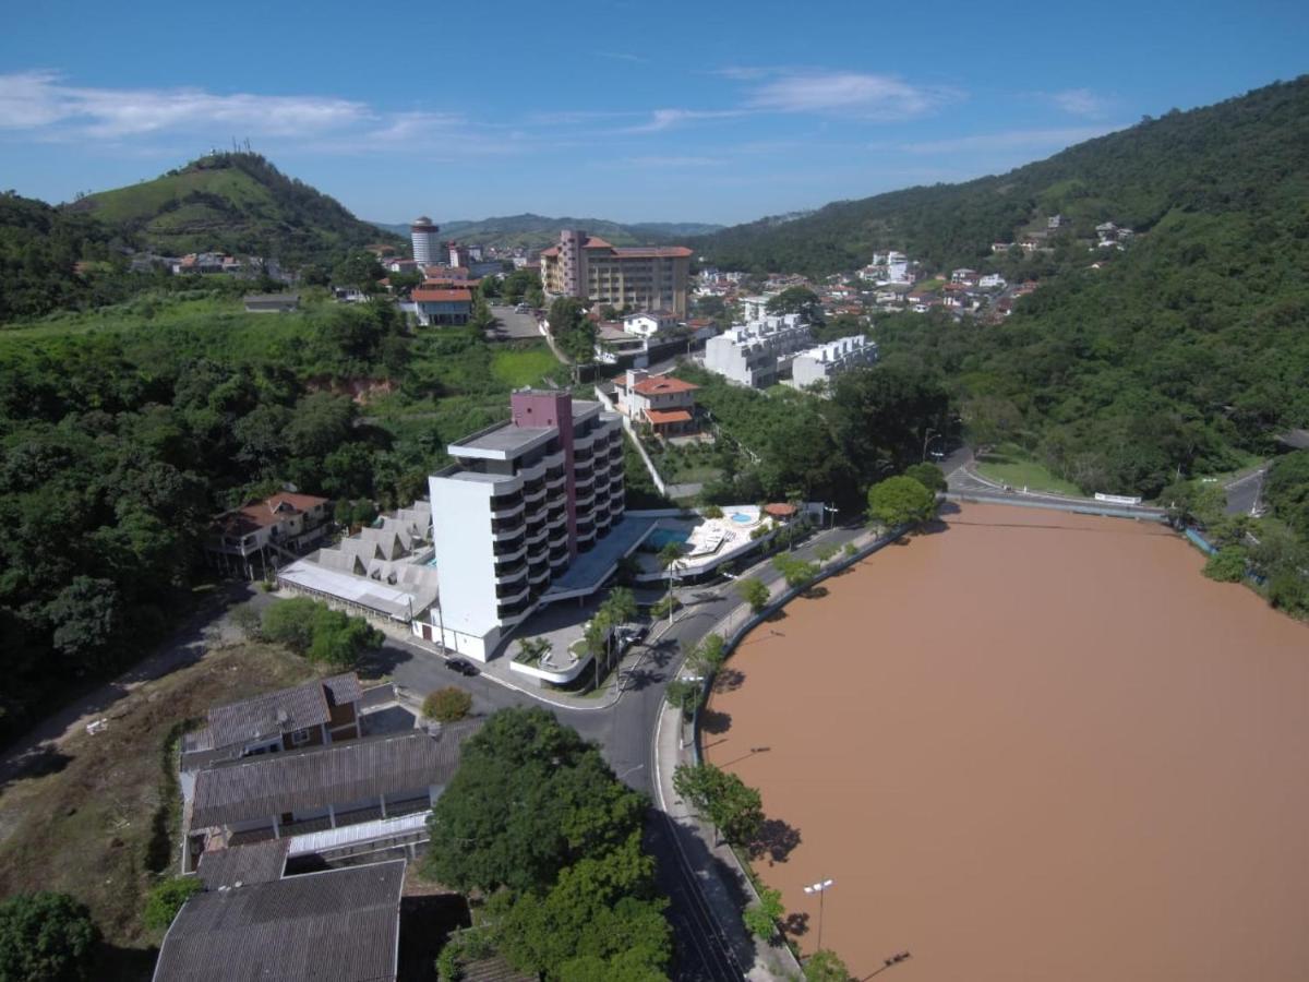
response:
M236 137L378 221L749 221L1309 68L1304 3L5 5L0 187L69 200Z

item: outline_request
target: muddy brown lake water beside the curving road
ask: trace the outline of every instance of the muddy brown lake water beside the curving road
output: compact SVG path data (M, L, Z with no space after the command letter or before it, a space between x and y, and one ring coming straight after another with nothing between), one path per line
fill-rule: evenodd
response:
M1309 630L1165 529L967 505L733 656L763 880L888 982L1309 978ZM734 687L733 687L734 686ZM766 748L766 749L761 749Z

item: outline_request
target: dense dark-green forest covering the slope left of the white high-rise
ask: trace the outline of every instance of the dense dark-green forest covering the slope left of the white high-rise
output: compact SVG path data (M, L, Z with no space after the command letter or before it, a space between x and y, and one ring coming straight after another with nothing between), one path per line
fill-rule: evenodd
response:
M407 504L448 441L559 368L539 343L308 300L143 295L0 331L0 741L171 626L219 511L287 483Z

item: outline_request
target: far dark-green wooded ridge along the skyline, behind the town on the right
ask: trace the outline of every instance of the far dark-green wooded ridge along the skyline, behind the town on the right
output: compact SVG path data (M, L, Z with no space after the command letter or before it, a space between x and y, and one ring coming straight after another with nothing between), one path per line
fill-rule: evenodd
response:
M1013 241L1047 215L1063 213L1083 237L1100 221L1148 232L1177 212L1295 208L1304 202L1309 149L1306 79L1190 113L1173 110L1008 174L835 202L690 245L724 268L755 272L853 270L888 247L945 268L975 264L992 242Z

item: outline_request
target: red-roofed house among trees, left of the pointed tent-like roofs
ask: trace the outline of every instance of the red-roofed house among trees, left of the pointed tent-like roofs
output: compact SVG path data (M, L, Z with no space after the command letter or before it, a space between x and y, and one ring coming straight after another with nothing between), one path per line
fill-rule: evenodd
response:
M249 501L213 521L204 553L215 566L254 576L255 556L267 566L270 549L298 554L321 539L331 517L330 504L326 498L285 491Z

